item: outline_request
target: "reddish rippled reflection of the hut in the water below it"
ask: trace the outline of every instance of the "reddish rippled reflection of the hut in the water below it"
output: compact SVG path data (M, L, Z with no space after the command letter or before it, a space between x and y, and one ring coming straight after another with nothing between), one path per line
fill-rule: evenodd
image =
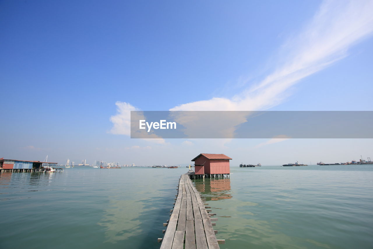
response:
M231 179L195 180L195 188L206 197L206 200L231 199Z

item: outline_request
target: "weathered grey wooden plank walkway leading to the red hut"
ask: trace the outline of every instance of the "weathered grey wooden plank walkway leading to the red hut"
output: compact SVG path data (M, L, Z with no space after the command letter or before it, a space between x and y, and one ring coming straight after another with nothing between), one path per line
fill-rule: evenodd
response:
M216 214L208 213L211 209L205 200L202 200L200 193L193 186L189 175L181 175L178 194L176 195L175 206L170 219L163 223L167 226L163 230L161 249L219 249L218 244L224 244L225 240L217 240L213 229L217 218L211 218ZM203 198L204 199L204 198Z

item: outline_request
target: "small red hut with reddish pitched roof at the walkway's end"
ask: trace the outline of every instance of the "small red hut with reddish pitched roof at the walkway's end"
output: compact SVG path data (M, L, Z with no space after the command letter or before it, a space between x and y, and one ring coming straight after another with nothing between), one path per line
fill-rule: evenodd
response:
M224 154L199 154L192 159L195 175L229 174L229 160Z

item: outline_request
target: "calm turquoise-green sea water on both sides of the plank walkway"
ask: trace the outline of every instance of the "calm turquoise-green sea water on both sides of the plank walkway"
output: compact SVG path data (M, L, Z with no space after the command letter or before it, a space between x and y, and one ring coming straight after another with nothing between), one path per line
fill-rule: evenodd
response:
M186 171L1 173L0 248L159 248ZM231 171L196 181L219 218L220 248L372 248L373 165Z

